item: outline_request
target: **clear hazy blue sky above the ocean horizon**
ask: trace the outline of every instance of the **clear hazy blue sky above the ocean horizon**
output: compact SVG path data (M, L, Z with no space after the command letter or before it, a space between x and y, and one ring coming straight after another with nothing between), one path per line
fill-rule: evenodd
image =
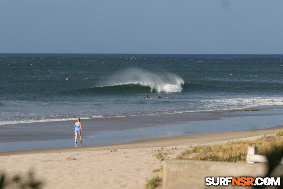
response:
M0 53L283 54L282 0L0 0Z

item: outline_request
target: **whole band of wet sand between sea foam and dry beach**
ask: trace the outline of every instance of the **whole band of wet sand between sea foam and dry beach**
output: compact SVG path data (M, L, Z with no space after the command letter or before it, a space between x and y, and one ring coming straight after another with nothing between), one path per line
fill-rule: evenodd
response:
M98 119L87 119L82 122L83 131L85 131L82 133L82 147L126 144L136 141L158 140L158 138L163 137L197 136L200 134L272 128L283 125L282 116L283 110L265 110L224 113L181 113L108 119L98 118L99 121L97 121ZM14 135L16 139L18 136L21 136L27 139L37 137L40 140L1 142L2 148L0 152L65 147L72 148L75 144L74 133L71 131L70 125L73 126L73 121L46 122L40 123L40 125L16 125L17 129L19 129L16 134L14 131L15 127L11 127L11 131L9 131L9 128L6 128L8 134L2 137L2 141L11 135ZM59 131L50 133L50 126L54 128L58 126ZM120 126L122 126L122 128L120 128ZM33 128L36 128L36 131L33 131ZM27 131L21 131L23 129ZM31 136L33 133L37 135ZM50 135L55 136L50 138ZM64 138L64 136L68 138ZM48 137L49 140L46 140L46 137ZM61 140L54 140L62 137L63 139Z

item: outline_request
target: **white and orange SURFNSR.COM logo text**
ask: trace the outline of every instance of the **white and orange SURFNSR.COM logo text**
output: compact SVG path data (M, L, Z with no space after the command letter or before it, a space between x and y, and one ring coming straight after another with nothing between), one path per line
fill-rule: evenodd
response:
M258 177L256 179L252 177L217 177L217 179L214 177L207 177L205 181L205 184L208 186L211 184L214 186L228 186L229 183L231 183L232 186L261 186L262 184L265 186L280 186L280 177L277 177L276 180L274 177Z

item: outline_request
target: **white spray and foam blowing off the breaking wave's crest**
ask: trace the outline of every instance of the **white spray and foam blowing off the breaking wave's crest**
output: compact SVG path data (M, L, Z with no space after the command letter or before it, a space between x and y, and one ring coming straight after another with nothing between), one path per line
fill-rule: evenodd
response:
M149 86L151 91L180 93L183 90L181 84L184 83L181 77L169 72L155 74L141 68L128 68L112 75L104 86L140 84Z

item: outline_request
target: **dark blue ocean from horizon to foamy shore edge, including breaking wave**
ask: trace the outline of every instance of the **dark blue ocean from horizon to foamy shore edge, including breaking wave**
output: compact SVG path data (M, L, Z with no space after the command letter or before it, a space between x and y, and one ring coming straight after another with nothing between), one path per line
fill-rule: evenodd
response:
M283 109L283 55L0 54L0 81L2 125Z

